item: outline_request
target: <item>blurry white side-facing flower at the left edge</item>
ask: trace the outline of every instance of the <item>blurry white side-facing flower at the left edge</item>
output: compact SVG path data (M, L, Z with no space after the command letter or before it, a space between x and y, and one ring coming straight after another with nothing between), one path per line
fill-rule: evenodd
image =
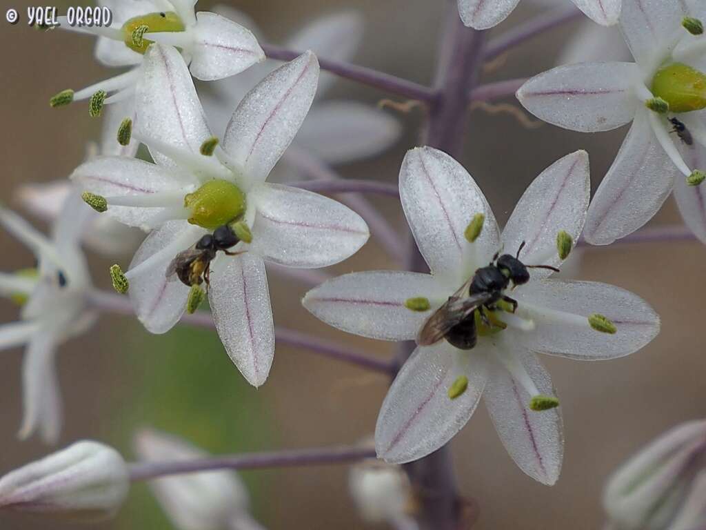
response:
M61 397L56 380L56 347L85 333L95 322L87 307L90 277L80 237L95 215L77 193L56 218L51 239L23 218L0 208L0 225L35 254L37 269L0 273L0 294L23 304L20 320L0 325L0 348L26 346L23 365L24 418L20 437L37 430L55 443L61 431Z

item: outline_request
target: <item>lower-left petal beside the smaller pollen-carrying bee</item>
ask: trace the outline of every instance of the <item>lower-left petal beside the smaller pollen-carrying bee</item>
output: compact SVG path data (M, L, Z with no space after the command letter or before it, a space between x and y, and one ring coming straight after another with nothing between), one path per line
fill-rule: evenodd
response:
M198 240L201 233L199 230L184 220L164 223L140 245L130 268L133 269L165 247L188 249ZM166 276L167 266L176 257L177 252L168 252L156 259L148 270L130 278L130 299L138 319L150 333L166 333L179 322L186 309L189 288L178 278Z

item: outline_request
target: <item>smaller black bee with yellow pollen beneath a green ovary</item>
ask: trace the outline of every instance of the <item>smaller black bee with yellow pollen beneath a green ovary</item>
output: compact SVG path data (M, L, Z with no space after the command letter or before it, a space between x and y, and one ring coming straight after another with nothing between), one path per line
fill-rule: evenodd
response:
M230 247L239 242L240 240L229 225L219 226L213 231L213 234L203 235L190 249L179 252L177 257L172 259L172 262L167 266L166 276L171 278L177 275L181 283L188 287L201 285L204 280L206 285L209 285L211 261L219 250L229 256L239 254L239 252L228 252Z

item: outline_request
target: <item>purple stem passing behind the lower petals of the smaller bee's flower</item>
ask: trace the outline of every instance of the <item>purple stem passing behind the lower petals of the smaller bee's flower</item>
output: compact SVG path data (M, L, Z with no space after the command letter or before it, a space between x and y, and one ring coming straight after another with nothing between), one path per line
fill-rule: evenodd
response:
M94 290L88 295L88 301L95 309L102 312L125 315L134 314L130 299L118 294ZM215 329L210 313L203 311L197 311L194 314L184 314L179 322L191 326ZM392 364L388 361L371 358L368 355L354 351L352 348L344 348L338 342L326 341L323 338L313 337L293 329L275 328L275 340L280 344L303 348L330 359L363 367L366 370L389 375L393 369Z

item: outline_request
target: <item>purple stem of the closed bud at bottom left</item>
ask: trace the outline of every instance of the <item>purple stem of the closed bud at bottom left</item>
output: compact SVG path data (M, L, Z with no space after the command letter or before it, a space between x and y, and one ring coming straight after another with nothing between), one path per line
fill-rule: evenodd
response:
M135 464L130 464L129 470L130 480L139 482L150 481L164 476L220 471L223 469L268 469L347 464L375 458L375 456L375 449L369 447L321 447L316 449L234 454L228 457L195 460L136 462Z

